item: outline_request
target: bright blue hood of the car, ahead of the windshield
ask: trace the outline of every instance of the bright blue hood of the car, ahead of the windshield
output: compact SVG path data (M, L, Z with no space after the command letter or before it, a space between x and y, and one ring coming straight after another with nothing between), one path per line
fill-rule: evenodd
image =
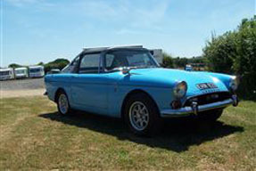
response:
M200 71L163 68L132 69L130 74L124 77L125 84L165 88L173 88L180 81L186 81L187 95L228 91L227 86L218 77ZM213 83L218 88L200 90L196 85L201 83Z

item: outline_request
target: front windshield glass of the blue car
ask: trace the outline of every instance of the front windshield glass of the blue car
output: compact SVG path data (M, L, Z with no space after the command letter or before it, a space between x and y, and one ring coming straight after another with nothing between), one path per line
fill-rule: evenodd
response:
M106 53L105 68L117 70L120 68L156 68L159 64L153 60L151 53L147 51L114 51Z

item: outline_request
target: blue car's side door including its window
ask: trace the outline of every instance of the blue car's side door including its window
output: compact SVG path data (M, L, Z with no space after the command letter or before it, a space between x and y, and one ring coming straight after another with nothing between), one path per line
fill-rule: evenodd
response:
M102 72L102 54L80 57L78 73L72 77L71 98L79 109L91 112L107 110L108 76Z

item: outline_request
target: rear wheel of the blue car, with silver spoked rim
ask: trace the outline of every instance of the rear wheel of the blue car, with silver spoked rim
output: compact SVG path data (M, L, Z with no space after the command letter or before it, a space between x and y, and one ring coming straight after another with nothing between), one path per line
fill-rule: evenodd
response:
M70 102L67 94L64 91L60 91L57 96L58 111L61 115L70 114Z

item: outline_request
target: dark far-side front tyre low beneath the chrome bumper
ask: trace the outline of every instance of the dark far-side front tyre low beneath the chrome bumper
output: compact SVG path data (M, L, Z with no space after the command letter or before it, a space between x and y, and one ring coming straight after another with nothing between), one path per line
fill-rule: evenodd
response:
M223 109L203 111L198 114L198 118L214 122L221 116L222 112Z

